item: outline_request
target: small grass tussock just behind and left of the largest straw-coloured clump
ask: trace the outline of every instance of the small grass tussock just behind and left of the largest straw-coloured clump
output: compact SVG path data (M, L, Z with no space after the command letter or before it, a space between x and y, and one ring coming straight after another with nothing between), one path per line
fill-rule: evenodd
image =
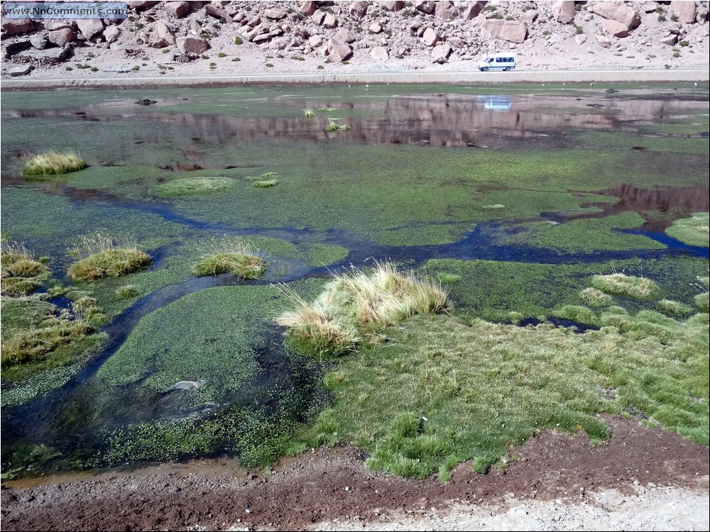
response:
M266 262L243 238L212 240L202 248L202 260L192 267L197 277L231 273L242 279L258 279L266 272Z

